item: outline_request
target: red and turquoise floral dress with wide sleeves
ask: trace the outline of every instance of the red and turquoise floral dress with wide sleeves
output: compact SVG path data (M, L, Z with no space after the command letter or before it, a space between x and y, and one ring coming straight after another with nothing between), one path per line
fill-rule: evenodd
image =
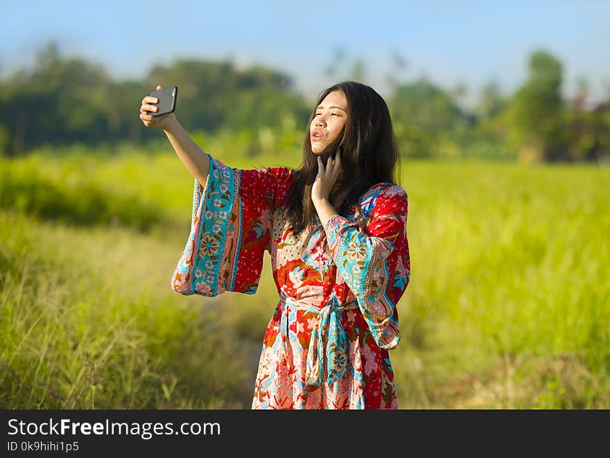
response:
M284 206L293 170L242 170L208 157L171 286L208 297L254 294L270 252L279 301L252 408L396 409L388 350L400 339L396 306L410 279L405 190L375 184L347 218L295 237Z

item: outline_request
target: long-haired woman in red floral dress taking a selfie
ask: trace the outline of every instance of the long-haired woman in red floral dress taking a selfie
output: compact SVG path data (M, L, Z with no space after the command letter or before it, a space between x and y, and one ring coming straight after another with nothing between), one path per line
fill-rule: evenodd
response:
M157 90L161 87L157 87ZM279 302L265 332L253 409L396 409L388 350L410 279L407 193L385 101L358 82L318 98L298 170L231 168L173 114L164 130L195 177L191 234L171 279L181 294L254 294L270 252Z

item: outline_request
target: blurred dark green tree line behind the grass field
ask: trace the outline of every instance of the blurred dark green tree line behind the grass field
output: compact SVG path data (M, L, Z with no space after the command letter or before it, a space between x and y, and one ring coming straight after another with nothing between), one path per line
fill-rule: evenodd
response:
M329 76L344 55L334 57ZM489 82L471 108L460 103L464 85L446 90L425 76L401 80L397 74L407 64L394 58L386 100L405 156L610 160L610 94L587 108L588 83L581 79L577 96L564 100L561 62L546 51L530 55L528 77L515 94L502 96ZM365 69L356 60L351 78L366 82ZM143 126L138 109L159 82L179 87L177 116L191 134L237 136L250 155L300 148L306 137L313 104L280 71L183 59L154 66L142 80L114 80L101 65L62 57L51 42L33 69L0 80L0 152L17 156L40 146L143 146L158 140L159 132Z

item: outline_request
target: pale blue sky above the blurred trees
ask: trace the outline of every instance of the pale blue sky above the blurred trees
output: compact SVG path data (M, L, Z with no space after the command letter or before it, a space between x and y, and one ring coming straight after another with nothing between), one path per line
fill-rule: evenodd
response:
M231 58L289 73L313 98L365 62L365 80L384 95L392 53L466 103L495 80L509 94L528 54L546 49L564 64L564 95L589 80L593 100L610 91L610 0L428 1L12 1L3 0L0 73L33 62L50 39L64 55L103 64L117 78L141 78L155 62ZM338 74L324 69L345 52ZM161 82L170 85L171 82Z

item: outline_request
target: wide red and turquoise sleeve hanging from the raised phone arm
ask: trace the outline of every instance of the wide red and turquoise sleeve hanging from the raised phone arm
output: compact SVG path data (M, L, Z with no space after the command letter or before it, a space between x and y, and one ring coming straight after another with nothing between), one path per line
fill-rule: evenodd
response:
M180 294L254 294L270 246L277 190L288 168L242 170L210 159L207 182L195 179L191 233L171 279Z

